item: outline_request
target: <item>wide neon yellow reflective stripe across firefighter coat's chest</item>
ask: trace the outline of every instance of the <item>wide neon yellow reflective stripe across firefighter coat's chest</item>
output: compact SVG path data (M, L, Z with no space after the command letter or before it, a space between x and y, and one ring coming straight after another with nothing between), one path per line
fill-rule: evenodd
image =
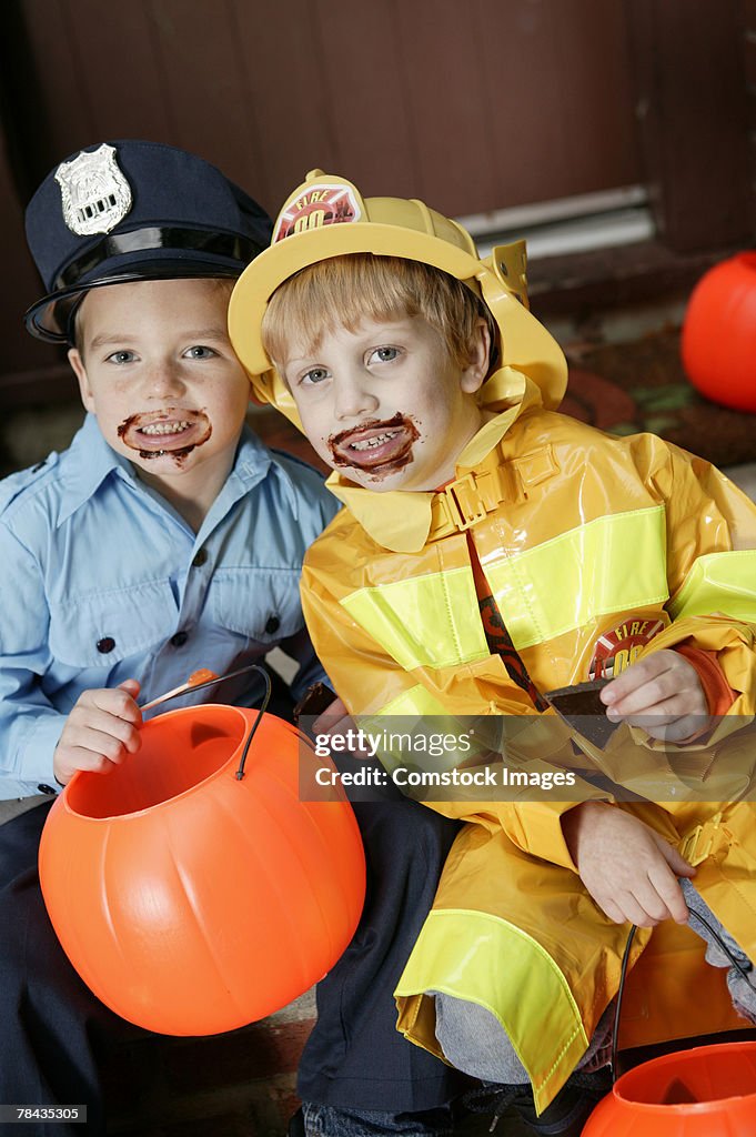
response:
M667 596L664 506L597 517L522 553L482 556L520 649ZM362 588L341 600L406 671L489 655L470 566ZM394 714L405 713L398 709Z

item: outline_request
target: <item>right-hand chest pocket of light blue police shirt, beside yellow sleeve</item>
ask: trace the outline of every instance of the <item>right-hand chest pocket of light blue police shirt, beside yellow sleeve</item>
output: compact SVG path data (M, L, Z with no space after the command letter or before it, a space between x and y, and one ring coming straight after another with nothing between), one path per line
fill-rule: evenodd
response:
M208 604L216 624L261 645L279 644L305 625L293 568L218 570Z

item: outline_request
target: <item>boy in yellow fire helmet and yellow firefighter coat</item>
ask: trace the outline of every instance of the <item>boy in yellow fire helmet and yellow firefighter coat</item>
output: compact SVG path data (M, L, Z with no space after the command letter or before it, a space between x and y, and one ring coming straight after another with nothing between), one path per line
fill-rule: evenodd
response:
M756 509L655 437L555 413L565 360L527 310L521 244L481 260L423 202L316 171L238 282L230 329L347 507L307 554L302 599L350 714L548 725L542 692L614 673L601 698L626 745L711 773L754 711ZM630 924L624 1045L746 1024L687 921L708 912L746 970L756 958L754 807L663 796L430 803L468 824L398 1026L502 1101L530 1082L537 1131L580 1132L584 1111L553 1110L601 1062ZM343 1131L305 1112L309 1132Z

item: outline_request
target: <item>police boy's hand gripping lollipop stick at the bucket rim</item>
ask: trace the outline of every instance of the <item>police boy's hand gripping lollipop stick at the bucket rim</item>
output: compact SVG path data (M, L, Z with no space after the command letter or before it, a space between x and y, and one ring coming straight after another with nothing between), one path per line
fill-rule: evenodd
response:
M127 679L118 687L83 691L63 728L53 758L56 779L65 786L77 770L102 773L141 746L142 712L134 699L140 684Z

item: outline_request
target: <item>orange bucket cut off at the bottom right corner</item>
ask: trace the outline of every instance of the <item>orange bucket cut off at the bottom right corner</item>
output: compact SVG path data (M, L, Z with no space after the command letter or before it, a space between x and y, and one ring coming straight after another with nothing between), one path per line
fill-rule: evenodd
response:
M754 1137L756 1041L643 1062L614 1084L582 1137Z

